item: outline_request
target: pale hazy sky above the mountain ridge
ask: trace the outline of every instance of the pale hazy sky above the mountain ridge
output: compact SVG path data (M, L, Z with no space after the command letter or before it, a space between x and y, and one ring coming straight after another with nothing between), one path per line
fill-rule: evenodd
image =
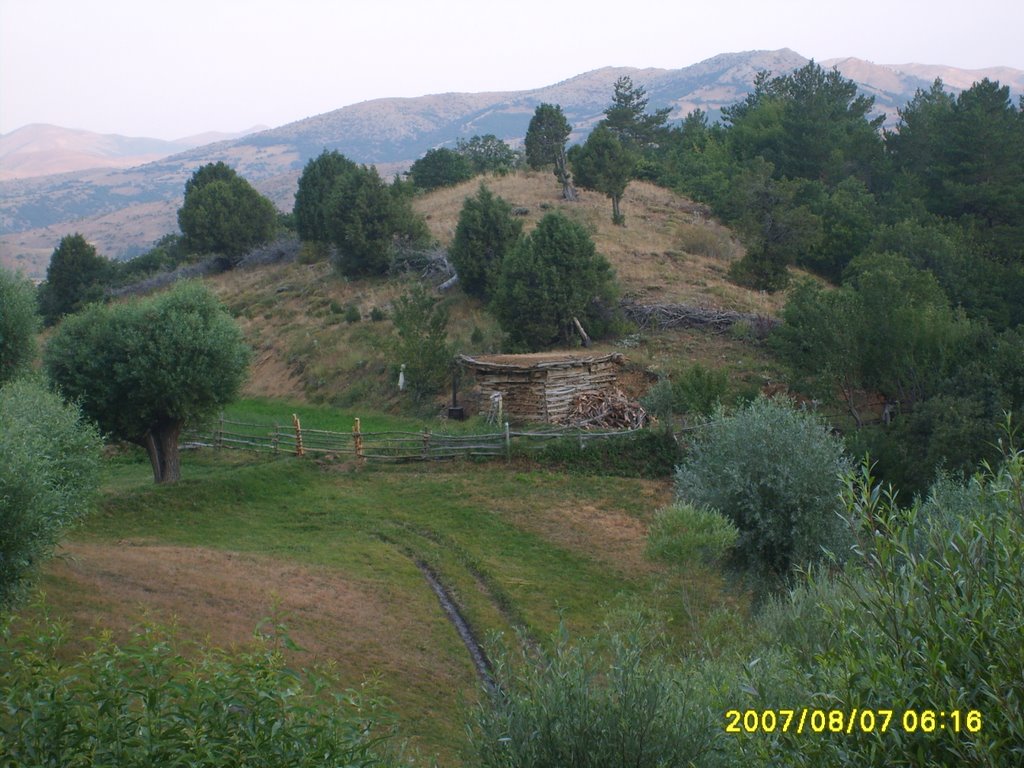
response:
M182 138L792 48L1024 70L1022 0L0 0L0 133Z

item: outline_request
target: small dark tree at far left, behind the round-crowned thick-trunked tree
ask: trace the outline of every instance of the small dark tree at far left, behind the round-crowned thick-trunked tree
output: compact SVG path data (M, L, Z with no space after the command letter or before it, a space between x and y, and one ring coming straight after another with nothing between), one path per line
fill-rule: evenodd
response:
M46 282L39 287L39 309L47 325L103 297L103 287L114 274L111 261L76 232L60 239L46 267Z

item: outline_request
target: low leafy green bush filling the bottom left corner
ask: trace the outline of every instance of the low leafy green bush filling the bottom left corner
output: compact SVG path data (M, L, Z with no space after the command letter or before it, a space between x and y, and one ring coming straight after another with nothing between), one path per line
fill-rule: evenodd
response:
M186 657L174 638L109 633L67 662L60 627L43 624L0 644L4 765L381 766L377 702L338 694L324 672L296 673L280 643Z

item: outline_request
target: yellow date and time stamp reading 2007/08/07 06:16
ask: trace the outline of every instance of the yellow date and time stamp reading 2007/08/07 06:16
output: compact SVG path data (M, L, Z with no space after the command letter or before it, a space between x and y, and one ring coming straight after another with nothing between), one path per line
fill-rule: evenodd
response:
M728 710L726 733L977 733L978 710Z

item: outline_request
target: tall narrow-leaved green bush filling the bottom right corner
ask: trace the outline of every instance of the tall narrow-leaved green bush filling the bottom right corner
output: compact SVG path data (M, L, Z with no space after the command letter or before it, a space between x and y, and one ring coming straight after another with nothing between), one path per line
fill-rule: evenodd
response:
M759 735L744 741L748 762L1021 765L1024 453L1011 446L1001 467L968 482L940 479L906 508L865 465L845 501L860 526L858 558L835 582L799 586L779 607L766 636L774 645L784 638L785 657L753 675L745 690L754 698L738 706L801 700L889 710L893 720L884 734L858 724L812 739ZM804 631L778 632L786 614Z

